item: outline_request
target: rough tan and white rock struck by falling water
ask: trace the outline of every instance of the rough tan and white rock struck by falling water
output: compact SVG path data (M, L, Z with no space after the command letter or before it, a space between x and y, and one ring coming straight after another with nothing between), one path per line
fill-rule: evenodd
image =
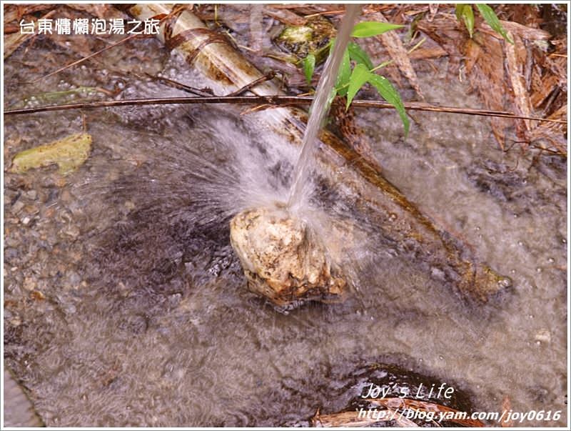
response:
M280 307L339 298L346 282L302 220L280 209L252 209L230 222L232 247L248 288Z

